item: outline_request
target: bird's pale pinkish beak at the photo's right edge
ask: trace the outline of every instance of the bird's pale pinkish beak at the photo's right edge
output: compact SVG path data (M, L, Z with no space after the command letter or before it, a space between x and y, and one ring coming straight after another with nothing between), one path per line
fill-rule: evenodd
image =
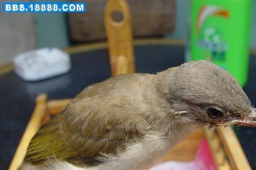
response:
M221 125L221 124L217 124L217 125ZM222 124L222 125L224 125L224 126L242 125L242 126L251 126L251 127L256 128L256 110L253 108L251 113L243 120L236 119L236 120L232 120L232 121Z

